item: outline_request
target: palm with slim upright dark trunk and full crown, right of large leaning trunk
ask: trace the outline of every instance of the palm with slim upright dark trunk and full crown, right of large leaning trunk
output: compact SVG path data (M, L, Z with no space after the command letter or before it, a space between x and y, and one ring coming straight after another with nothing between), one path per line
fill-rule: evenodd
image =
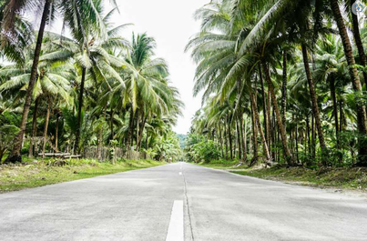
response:
M114 48L123 49L127 47L127 41L120 36L117 36L118 31L126 25L119 25L117 27L111 27L109 25L109 17L115 10L109 12L103 19L102 25L106 28L107 36L104 33L95 35L93 27L88 28L88 31L82 31L83 35L87 38L87 45L84 37L78 40L77 35L80 35L79 29L74 29L75 38L67 38L62 35L50 34L54 38L54 45L56 45L56 51L48 55L44 55L42 59L48 61L61 61L73 58L77 64L77 71L80 76L78 105L77 105L77 129L76 129L76 149L80 147L80 131L82 126L82 108L85 93L85 85L87 80L93 80L97 83L105 82L108 88L111 90L111 86L108 83L109 79L114 79L125 87L124 80L118 73L118 68L123 67L124 61L113 55L112 50ZM98 10L98 13L102 13L102 9ZM72 17L72 16L67 16ZM69 21L69 20L68 20ZM71 24L71 23L69 23ZM86 23L92 25L93 23ZM95 26L96 27L96 26ZM98 33L98 32L97 32Z

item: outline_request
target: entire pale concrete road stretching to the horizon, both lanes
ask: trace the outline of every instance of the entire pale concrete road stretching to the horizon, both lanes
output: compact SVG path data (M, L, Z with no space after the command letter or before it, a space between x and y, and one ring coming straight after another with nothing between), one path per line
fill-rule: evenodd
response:
M189 164L0 195L2 241L180 240L179 226L185 240L367 240L367 200Z

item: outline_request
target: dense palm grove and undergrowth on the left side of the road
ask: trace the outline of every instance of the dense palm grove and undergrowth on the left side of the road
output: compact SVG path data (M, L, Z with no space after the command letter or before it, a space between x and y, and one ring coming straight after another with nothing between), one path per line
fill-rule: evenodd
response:
M110 22L117 8L106 12L102 0L0 5L5 162L47 151L83 154L87 146L98 146L99 152L103 146L120 147L159 160L181 156L171 126L183 104L168 81L168 65L155 56L152 37L132 35L128 41L120 35L127 25ZM42 13L36 33L25 19L35 12ZM45 31L55 15L64 23L60 34ZM39 139L42 149L35 150Z

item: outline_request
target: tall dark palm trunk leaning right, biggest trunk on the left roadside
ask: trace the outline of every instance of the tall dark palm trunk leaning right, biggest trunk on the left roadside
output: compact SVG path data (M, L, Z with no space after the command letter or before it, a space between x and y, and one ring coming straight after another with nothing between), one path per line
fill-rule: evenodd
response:
M33 65L31 69L31 76L29 79L28 88L26 89L25 94L25 105L23 107L23 114L22 120L20 123L20 131L15 136L14 146L11 154L6 158L5 163L16 163L22 162L22 156L20 155L20 150L22 149L23 138L25 136L25 127L26 127L26 119L28 118L29 108L32 103L32 95L33 89L35 87L36 82L36 74L37 74L37 67L39 62L39 55L41 53L42 48L42 40L44 38L45 33L45 26L47 21L47 16L49 14L51 5L51 0L45 1L44 11L42 14L41 25L38 30L37 42L36 42L36 49L35 49L35 57L33 59Z

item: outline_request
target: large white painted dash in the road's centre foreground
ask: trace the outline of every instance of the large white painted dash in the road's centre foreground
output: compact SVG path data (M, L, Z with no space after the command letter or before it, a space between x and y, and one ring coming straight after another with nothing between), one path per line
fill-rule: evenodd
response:
M183 201L173 202L166 241L184 241Z

